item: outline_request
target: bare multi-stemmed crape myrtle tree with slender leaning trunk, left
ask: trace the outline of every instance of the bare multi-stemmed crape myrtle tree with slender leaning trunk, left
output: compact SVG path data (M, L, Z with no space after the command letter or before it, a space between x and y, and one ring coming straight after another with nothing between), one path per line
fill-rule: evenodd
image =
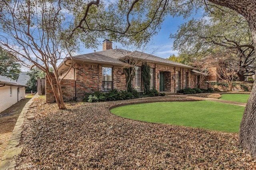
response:
M58 107L64 109L57 63L71 55L76 42L66 39L69 22L60 1L2 0L0 6L0 45L24 65L46 72Z

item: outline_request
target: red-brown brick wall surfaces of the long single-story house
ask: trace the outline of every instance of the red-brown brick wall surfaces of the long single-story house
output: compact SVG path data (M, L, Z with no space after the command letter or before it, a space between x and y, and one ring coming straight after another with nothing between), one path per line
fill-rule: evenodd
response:
M174 66L166 66L155 63L147 63L151 68L154 68L154 84L156 90L159 91L160 86L160 72L164 72L164 91L176 93L178 80L177 71L180 71L180 89L185 87L185 72L188 72L189 82L188 86L194 88L195 76L190 74L190 69L180 68ZM62 73L63 76L65 72ZM60 77L61 77L60 76ZM126 76L122 67L112 67L113 76L113 89L126 90ZM175 79L174 79L175 76ZM134 85L134 80L132 82ZM101 92L102 91L102 65L89 64L89 63L75 63L74 69L72 68L67 74L65 79L62 80L62 93L64 100L72 100L74 97L77 100L83 100L86 93ZM201 84L200 84L201 86ZM142 82L143 90L143 82ZM46 80L46 102L54 102L54 94L52 88Z

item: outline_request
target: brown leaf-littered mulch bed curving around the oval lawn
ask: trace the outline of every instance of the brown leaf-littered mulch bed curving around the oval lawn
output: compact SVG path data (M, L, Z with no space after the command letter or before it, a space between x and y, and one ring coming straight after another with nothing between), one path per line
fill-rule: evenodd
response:
M16 169L254 169L256 160L237 133L124 119L118 104L197 100L165 96L100 103L44 104L35 98L27 116Z

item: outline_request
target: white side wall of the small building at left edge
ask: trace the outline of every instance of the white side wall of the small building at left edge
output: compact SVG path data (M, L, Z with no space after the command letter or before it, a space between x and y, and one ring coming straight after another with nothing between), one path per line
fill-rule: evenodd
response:
M12 95L10 95L10 86L0 87L0 112L18 102L18 87L12 86Z

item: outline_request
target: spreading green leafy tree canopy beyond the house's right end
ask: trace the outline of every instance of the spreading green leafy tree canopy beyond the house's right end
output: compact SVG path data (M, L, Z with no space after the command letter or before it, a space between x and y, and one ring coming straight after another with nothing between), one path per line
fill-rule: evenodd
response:
M255 74L255 51L252 33L246 19L222 6L207 4L204 16L182 24L178 32L171 35L175 38L174 49L182 56L190 55L192 61L212 56L226 49L236 55L238 80Z

